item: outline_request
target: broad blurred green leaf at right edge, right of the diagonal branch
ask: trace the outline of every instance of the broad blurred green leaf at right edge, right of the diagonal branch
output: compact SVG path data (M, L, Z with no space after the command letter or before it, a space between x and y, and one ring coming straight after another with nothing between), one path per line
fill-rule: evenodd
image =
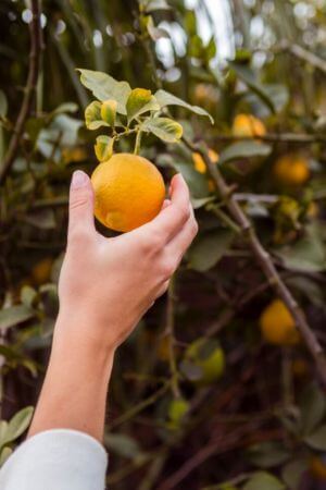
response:
M289 269L322 272L326 269L326 253L321 236L318 226L312 224L306 226L304 237L293 245L277 248L274 253Z

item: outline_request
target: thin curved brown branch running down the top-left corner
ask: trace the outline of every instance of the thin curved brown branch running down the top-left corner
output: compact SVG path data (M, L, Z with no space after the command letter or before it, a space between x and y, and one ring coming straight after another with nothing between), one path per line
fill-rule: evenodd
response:
M25 123L32 111L33 100L38 81L40 52L42 49L39 0L32 0L32 13L33 19L29 24L29 32L30 32L29 66L28 66L27 82L24 89L25 94L15 123L14 133L10 139L8 151L5 154L5 157L3 159L0 169L0 185L4 182L11 169L11 166L13 164L16 158L20 143L24 135Z

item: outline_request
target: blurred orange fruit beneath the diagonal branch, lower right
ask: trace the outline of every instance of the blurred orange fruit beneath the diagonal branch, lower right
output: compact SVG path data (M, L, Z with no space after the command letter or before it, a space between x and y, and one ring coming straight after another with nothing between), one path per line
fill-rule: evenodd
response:
M280 299L274 299L263 310L260 327L263 338L269 344L296 345L300 342L294 319Z

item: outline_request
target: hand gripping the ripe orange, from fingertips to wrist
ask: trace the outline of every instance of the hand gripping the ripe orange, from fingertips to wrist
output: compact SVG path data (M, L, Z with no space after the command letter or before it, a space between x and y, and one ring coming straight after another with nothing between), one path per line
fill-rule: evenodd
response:
M197 231L188 187L177 174L171 200L154 220L105 238L95 228L90 180L75 172L57 333L64 330L74 339L114 351L166 291Z

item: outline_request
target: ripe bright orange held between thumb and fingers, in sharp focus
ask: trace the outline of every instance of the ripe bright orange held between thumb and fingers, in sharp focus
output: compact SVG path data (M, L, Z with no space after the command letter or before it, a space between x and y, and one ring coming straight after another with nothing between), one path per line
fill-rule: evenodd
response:
M164 181L149 160L115 154L91 175L95 215L108 228L127 232L151 221L161 210Z

